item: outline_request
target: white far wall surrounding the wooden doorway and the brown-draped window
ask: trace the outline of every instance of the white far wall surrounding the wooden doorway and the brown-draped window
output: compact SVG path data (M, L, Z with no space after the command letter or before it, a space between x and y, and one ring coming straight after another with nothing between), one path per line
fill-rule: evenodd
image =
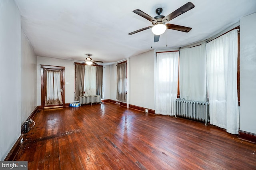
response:
M75 65L74 61L37 57L37 105L41 105L41 64L65 67L65 103L74 102L75 92ZM106 77L105 77L106 76ZM109 66L103 68L103 90L105 99L109 99Z

